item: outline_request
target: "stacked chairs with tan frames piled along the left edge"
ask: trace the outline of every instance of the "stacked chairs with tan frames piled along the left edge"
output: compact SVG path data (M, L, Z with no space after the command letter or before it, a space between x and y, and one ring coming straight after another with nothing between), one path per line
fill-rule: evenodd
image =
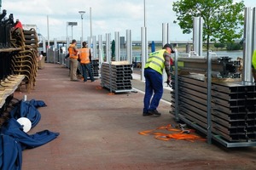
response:
M29 91L37 76L38 37L34 29L15 28L13 14L0 14L0 127L18 100L14 93L21 85Z

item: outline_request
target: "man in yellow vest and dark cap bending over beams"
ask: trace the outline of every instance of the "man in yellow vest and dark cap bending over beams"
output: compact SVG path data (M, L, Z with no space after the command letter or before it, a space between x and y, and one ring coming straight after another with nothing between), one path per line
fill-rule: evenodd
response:
M157 111L157 107L160 103L160 99L162 98L164 92L162 74L165 68L167 74L167 83L170 83L171 53L175 53L174 50L172 49L172 45L170 43L166 43L166 45L162 49L155 51L154 53L151 53L148 56L148 60L144 68L144 77L146 80L146 85L143 100L143 116L161 115L161 113Z

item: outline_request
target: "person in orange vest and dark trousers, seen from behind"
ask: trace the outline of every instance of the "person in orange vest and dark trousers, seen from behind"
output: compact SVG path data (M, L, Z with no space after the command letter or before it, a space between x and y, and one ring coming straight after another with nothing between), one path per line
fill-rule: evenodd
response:
M90 81L95 82L95 79L92 75L91 67L90 67L90 61L91 61L90 48L86 47L87 45L86 42L83 42L82 45L83 45L83 48L79 49L79 59L82 67L84 82L87 82L87 71L90 77Z

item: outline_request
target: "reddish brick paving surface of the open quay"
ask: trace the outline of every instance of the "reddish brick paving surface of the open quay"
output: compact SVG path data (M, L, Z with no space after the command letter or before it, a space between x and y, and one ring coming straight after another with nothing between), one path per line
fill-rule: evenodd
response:
M96 82L71 82L67 68L45 64L30 93L15 98L44 100L42 118L29 133L44 129L60 136L22 152L24 170L87 169L256 169L256 148L226 149L205 141L154 139L138 132L175 124L170 105L160 102L162 116L142 116L143 94L109 94ZM136 80L134 80L136 81ZM143 82L135 88L143 86Z

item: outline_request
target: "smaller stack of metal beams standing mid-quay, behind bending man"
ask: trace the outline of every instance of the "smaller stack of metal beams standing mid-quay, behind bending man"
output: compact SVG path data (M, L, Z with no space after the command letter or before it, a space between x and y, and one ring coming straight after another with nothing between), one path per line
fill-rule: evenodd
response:
M114 93L131 92L131 68L126 61L102 63L102 87Z

